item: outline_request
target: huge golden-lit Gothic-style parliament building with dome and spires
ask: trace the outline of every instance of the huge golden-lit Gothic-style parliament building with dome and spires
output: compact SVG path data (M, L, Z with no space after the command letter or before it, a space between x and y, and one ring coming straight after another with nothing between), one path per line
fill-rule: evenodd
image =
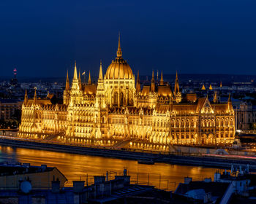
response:
M63 104L25 95L19 137L58 139L81 144L169 149L173 144L230 144L235 133L233 106L195 94L181 97L176 74L175 87L159 85L152 73L151 85L141 89L122 58L120 39L116 59L97 84L83 84L75 64L71 87L67 74Z

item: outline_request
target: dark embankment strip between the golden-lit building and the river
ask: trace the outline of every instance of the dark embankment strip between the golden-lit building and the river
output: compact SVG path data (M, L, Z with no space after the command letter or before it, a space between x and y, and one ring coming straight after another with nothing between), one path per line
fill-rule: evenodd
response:
M94 148L86 146L74 146L69 144L54 144L42 143L18 138L0 137L0 144L5 146L17 146L28 149L42 149L53 152L67 152L72 154L88 154L100 157L115 157L125 160L154 160L154 162L166 162L177 165L194 165L204 166L209 168L227 168L230 169L231 165L246 167L249 164L250 171L256 172L256 159L254 157L230 157L229 155L214 155L214 154L170 154L170 152L135 152L124 151L122 149L106 149Z

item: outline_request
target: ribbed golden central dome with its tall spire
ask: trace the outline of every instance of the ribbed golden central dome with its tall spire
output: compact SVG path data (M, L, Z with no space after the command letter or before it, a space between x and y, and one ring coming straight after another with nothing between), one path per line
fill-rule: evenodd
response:
M126 60L122 57L120 37L118 39L118 50L116 52L116 60L112 60L106 71L106 79L132 79L132 68L129 67Z

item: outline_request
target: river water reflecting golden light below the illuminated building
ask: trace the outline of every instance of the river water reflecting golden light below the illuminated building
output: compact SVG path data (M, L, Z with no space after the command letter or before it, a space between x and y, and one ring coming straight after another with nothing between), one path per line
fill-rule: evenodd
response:
M193 180L214 178L217 168L203 168L185 165L170 165L155 163L154 165L138 164L134 160L120 160L108 157L94 157L81 154L50 152L37 149L15 148L0 146L0 162L28 162L31 165L46 164L56 167L67 177L66 186L72 185L74 180L92 182L93 176L102 176L107 171L110 178L119 175L127 168L132 182L138 184L152 184L161 189L176 189L184 176Z

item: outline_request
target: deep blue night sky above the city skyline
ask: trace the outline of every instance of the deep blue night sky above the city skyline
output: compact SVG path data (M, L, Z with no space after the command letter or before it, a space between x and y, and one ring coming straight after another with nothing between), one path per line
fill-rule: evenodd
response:
M1 76L98 75L118 31L134 74L256 74L255 0L24 2L0 1Z

